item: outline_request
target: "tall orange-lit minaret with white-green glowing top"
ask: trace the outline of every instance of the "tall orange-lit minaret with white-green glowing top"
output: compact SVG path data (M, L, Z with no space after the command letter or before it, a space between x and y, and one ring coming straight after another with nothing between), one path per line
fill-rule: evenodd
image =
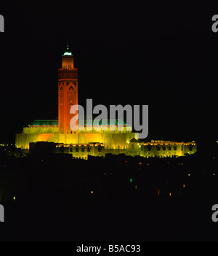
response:
M78 69L74 68L73 54L67 50L62 55L62 69L58 69L58 120L59 133L62 142L68 143L68 134L74 133L70 129L70 107L78 104Z

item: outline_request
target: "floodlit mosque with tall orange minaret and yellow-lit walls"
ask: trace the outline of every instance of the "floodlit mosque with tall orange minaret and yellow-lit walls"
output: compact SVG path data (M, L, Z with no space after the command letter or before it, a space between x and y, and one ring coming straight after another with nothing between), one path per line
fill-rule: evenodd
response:
M29 152L37 141L53 142L55 152L69 153L73 158L81 159L87 159L88 155L105 156L106 153L163 158L196 152L194 141L141 141L138 133L123 120L108 120L108 128L89 131L88 126L93 120L84 120L81 125L78 119L78 130L72 131L70 120L75 115L70 114L70 108L73 105L78 105L78 69L74 67L73 54L67 46L62 55L62 68L58 69L58 120L33 120L22 133L16 134L16 147ZM116 131L110 131L111 123ZM120 125L124 127L123 131L119 131Z

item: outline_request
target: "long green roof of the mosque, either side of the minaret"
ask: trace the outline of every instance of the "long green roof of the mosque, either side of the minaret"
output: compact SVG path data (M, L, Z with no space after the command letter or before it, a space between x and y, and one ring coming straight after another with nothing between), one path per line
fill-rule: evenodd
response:
M85 125L92 125L93 120L84 120ZM100 120L100 125L102 125L102 120ZM58 125L58 120L34 120L28 126L32 125ZM78 120L78 125L81 125L81 120ZM126 125L122 120L108 120L108 125ZM129 126L129 125L128 125Z

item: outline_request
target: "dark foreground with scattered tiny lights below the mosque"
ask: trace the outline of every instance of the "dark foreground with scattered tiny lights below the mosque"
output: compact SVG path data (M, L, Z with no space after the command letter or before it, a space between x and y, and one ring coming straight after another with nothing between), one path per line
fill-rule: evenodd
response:
M216 241L216 166L195 155L1 158L1 241Z

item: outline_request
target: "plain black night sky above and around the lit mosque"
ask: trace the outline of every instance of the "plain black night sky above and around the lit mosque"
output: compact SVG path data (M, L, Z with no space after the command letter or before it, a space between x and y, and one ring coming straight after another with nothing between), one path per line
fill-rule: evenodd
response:
M218 140L215 2L1 6L0 141L15 142L33 120L57 117L57 69L67 42L78 67L79 104L148 104L150 139Z

